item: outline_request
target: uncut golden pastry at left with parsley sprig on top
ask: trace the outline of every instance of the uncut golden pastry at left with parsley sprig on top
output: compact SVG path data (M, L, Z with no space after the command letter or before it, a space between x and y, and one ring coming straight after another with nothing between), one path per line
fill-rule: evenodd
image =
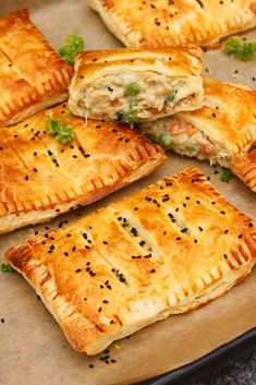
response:
M49 119L52 127L64 122L62 136L72 130L73 142L61 144L48 134ZM85 124L65 105L37 112L0 130L0 233L95 202L166 158L161 147L129 127Z

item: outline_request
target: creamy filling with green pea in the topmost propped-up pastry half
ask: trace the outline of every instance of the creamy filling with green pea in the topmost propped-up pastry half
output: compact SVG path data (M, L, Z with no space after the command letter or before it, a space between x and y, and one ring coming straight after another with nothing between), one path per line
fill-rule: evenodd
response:
M134 124L171 113L181 100L194 98L195 81L188 85L154 72L106 75L88 84L81 107L94 119Z

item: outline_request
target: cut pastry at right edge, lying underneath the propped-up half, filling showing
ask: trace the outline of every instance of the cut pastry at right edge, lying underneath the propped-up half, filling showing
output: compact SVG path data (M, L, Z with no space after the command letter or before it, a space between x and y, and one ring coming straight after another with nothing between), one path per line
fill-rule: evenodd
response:
M231 168L256 192L256 92L204 79L204 107L139 125L166 149Z

